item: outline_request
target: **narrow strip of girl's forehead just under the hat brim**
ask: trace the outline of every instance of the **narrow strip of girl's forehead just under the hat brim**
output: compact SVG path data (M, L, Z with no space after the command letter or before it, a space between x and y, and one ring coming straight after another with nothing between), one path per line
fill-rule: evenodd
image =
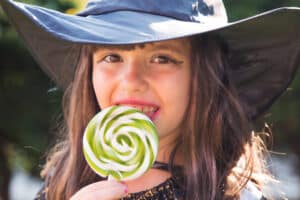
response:
M97 45L92 47L92 51L115 50L115 51L132 51L135 49L145 50L177 50L184 51L190 47L188 38L172 39L159 42L138 43L128 45Z

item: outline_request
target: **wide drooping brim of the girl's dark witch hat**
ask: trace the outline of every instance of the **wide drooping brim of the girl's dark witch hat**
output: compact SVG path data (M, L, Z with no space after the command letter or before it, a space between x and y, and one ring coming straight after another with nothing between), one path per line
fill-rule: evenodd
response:
M249 117L256 118L284 92L300 65L299 8L209 25L134 11L81 17L8 0L1 5L32 55L62 88L73 79L82 44L146 43L214 32L230 48L230 79Z

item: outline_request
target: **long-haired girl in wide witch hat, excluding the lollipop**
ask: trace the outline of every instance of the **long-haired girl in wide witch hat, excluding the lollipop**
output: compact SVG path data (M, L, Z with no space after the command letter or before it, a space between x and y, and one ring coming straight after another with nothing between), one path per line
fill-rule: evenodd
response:
M65 89L65 138L37 199L264 198L271 176L251 124L300 64L298 9L227 24L219 0L94 0L77 16L1 5ZM142 110L158 130L156 164L131 181L97 176L83 157L87 123L112 105Z

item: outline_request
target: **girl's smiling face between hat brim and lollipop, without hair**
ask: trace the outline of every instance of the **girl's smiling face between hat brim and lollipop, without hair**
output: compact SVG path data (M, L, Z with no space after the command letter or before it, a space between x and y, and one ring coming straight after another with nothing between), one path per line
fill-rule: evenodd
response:
M178 134L190 96L190 53L186 39L98 48L92 81L100 108L132 106L152 119L160 139Z

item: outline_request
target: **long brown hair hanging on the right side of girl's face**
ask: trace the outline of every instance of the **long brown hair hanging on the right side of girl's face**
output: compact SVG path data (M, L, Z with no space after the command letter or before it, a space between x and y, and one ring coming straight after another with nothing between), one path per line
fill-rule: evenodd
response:
M186 199L236 199L247 181L261 187L269 177L264 143L228 78L226 44L212 35L191 44L192 98L176 145L185 155Z

